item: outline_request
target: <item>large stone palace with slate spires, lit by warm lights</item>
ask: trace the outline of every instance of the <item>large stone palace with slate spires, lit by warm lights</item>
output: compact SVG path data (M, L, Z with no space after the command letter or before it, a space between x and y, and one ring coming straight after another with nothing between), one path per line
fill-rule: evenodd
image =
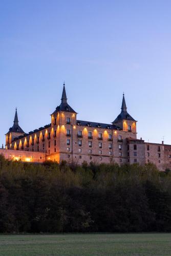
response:
M1 149L0 154L30 162L153 162L160 170L171 168L171 145L137 139L136 123L127 112L124 94L121 112L113 122L78 120L77 112L68 104L63 84L61 103L51 114L50 124L25 133L18 124L16 110L14 124L6 134L6 149Z

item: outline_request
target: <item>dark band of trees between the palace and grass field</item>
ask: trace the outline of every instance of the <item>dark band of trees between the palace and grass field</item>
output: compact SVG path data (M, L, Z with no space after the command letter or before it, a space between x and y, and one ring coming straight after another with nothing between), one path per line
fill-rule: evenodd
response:
M0 156L0 232L171 231L171 172Z

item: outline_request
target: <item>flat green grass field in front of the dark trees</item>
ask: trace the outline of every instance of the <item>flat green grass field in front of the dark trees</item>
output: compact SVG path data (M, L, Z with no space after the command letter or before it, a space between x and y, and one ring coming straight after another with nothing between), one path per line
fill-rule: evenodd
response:
M171 255L171 233L1 235L0 255Z

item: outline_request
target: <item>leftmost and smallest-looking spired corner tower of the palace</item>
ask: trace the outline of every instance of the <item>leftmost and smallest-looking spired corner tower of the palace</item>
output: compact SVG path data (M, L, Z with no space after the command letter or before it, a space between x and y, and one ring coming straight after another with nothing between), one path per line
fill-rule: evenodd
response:
M14 124L12 127L10 127L8 133L6 134L6 145L8 143L11 143L11 141L21 135L24 135L25 132L22 130L22 128L18 124L18 115L17 115L17 109L15 109L15 117L14 117Z

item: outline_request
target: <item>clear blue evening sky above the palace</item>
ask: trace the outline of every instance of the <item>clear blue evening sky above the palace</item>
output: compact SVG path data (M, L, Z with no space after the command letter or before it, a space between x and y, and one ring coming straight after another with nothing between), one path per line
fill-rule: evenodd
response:
M0 145L51 122L63 81L79 120L111 123L125 93L137 137L171 144L171 2L0 1Z

